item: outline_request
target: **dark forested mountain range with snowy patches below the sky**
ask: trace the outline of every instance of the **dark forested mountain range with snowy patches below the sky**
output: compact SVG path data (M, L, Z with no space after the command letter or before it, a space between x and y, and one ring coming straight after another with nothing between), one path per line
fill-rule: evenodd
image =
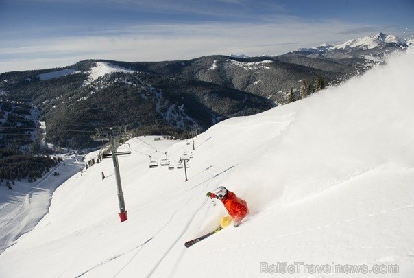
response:
M206 129L284 104L291 90L299 97L302 82L347 80L409 44L380 33L281 56L84 60L60 69L1 73L0 148L14 144L27 150L35 142L36 150L42 132L56 146L96 146L90 135L97 126L171 135Z

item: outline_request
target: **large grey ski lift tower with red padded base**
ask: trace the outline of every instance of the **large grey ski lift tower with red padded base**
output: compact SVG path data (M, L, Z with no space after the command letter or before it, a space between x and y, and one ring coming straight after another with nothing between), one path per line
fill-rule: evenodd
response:
M112 157L114 163L115 177L117 179L117 189L118 189L118 202L119 202L119 218L121 222L128 219L127 210L125 209L125 202L123 200L123 192L121 187L121 174L119 174L119 164L118 164L118 155L120 154L130 154L125 152L117 153L117 145L115 141L119 142L120 139L130 139L131 136L127 134L126 126L118 127L108 127L108 128L95 128L97 133L92 135L94 141L110 141L112 156L107 155L106 157ZM104 157L105 158L105 157Z

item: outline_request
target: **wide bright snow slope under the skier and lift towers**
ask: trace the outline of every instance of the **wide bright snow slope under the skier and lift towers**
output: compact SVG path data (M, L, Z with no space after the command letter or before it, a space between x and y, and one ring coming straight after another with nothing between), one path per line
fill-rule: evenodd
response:
M398 275L363 277L413 277L413 76L410 50L306 100L216 124L195 150L131 139L119 157L129 219L119 222L105 159L56 189L49 213L0 255L0 277L269 276L260 262L393 264ZM177 163L184 150L188 181L183 169L149 169L148 155ZM218 185L247 200L250 216L185 248L226 215L205 196Z

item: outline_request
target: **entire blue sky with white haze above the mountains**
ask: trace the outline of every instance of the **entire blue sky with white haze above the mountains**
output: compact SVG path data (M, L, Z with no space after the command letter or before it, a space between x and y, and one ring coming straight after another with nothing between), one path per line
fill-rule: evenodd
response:
M413 0L0 0L0 73L409 37L413 15Z

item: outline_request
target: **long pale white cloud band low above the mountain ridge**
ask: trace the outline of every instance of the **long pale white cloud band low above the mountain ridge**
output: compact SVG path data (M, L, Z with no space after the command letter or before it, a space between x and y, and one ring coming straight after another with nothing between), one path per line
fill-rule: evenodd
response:
M356 27L337 21L304 23L293 19L287 23L130 25L89 36L19 40L17 43L14 41L14 47L5 41L0 46L0 73L45 68L47 65L62 67L90 58L161 61L215 54L280 55L299 47L343 43L354 38L349 34L350 30L372 31L372 27ZM372 32L367 32L367 35L372 35Z

